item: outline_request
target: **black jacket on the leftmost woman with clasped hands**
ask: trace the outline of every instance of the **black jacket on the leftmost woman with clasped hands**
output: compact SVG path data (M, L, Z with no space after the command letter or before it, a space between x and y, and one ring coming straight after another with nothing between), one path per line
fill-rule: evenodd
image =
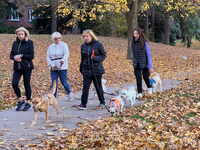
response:
M14 60L15 55L23 54L22 61L17 62ZM10 52L10 59L14 60L13 69L14 70L32 70L34 69L32 59L34 58L34 46L33 41L25 39L20 43L17 38L13 42L12 50ZM21 69L18 66L20 63Z

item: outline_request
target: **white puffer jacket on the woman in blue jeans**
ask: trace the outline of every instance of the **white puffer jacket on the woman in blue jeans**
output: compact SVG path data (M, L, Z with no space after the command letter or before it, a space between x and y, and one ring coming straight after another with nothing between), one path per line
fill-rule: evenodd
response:
M49 46L47 51L47 62L50 69L53 69L53 67L57 67L60 70L67 70L68 57L69 57L69 48L66 43L60 41L59 44L52 43ZM60 61L64 62L62 66L60 64Z

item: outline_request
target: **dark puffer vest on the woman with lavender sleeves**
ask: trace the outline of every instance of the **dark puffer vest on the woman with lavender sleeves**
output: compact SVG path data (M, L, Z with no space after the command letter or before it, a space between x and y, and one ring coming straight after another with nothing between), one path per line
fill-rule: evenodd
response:
M140 50L138 41L134 42L133 67L136 68L137 63L139 62L140 69L144 69L148 66L146 49Z

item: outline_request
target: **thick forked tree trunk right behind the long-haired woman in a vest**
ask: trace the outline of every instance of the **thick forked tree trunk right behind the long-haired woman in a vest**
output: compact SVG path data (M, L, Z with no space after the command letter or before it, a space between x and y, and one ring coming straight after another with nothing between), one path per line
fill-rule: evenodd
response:
M145 1L146 0L127 1L129 12L125 14L128 26L128 48L126 59L133 59L133 53L130 47L133 40L133 30L138 26L138 12L141 10L141 7L144 5Z

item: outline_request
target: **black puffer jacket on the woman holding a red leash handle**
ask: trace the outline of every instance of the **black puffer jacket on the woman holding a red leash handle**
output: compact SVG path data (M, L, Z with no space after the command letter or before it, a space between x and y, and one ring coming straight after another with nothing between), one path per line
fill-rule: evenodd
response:
M94 50L94 59L91 59ZM105 73L103 61L106 58L106 51L99 41L92 40L90 43L81 45L80 72L86 76L102 75Z

